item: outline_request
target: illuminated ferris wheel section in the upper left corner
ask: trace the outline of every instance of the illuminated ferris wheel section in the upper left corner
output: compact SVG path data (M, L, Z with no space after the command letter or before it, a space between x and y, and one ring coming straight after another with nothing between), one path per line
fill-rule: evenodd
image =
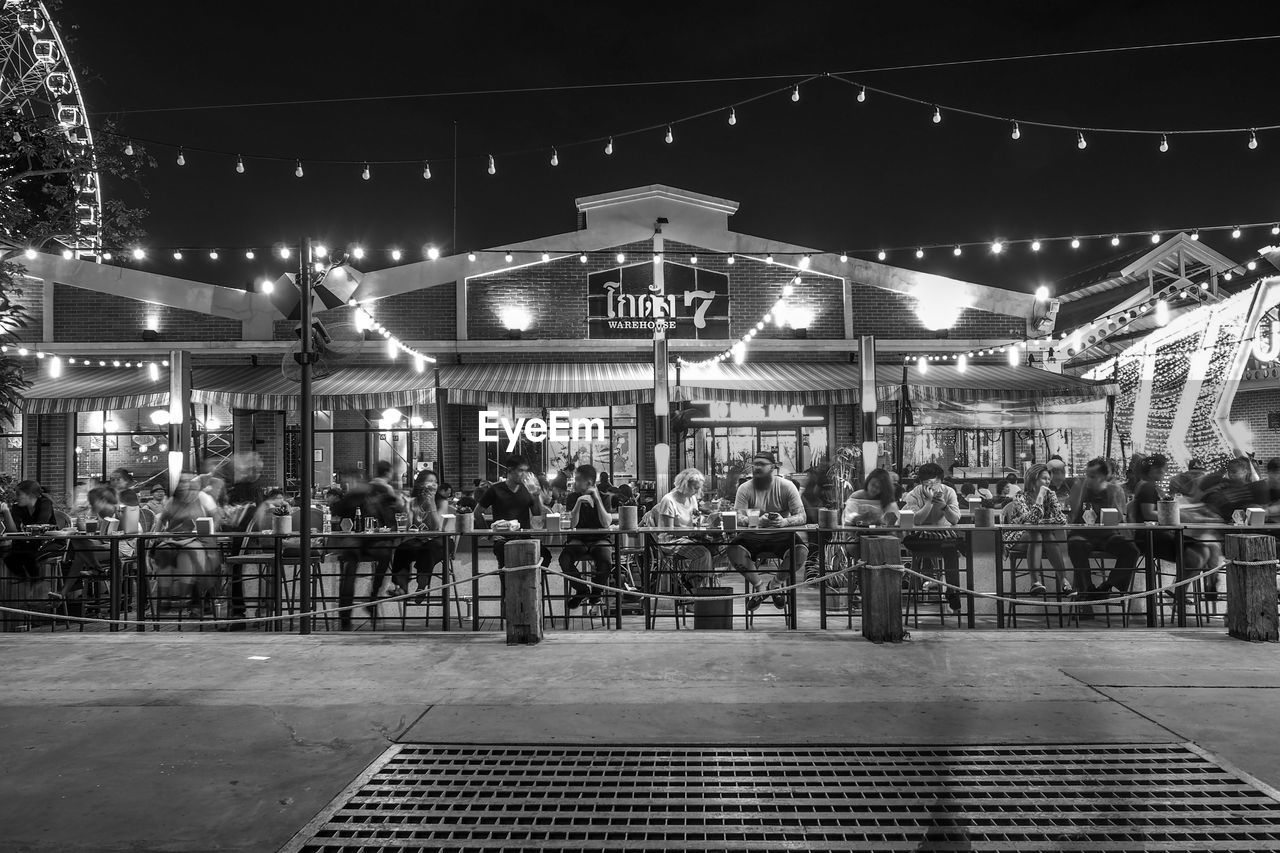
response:
M91 168L78 178L74 234L59 237L77 255L101 250L102 191L88 110L58 28L44 3L4 0L0 9L0 114L36 119L45 133L60 133L90 155Z

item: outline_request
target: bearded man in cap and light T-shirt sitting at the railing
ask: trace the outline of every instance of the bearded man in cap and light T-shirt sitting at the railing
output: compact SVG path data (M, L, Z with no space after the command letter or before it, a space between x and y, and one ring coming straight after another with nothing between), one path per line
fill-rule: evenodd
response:
M759 510L759 524L763 530L742 530L730 543L727 556L730 564L746 578L751 592L762 593L778 587L776 578L763 580L756 571L755 561L763 556L780 557L783 564L791 558L790 576L804 565L809 549L801 538L791 533L777 532L776 528L800 526L805 523L804 502L800 489L785 476L777 476L777 460L769 451L760 451L751 457L751 479L737 487L733 511L737 514L739 529L748 526L748 511ZM794 546L794 547L792 547ZM764 601L756 594L746 599L746 608L755 610ZM782 593L773 594L773 606L781 610L786 605Z

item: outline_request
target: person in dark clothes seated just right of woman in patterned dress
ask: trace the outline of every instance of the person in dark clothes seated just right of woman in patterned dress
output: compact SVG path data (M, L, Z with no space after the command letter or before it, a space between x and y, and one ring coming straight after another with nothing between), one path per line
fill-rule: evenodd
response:
M1089 460L1084 466L1084 478L1071 489L1070 524L1097 524L1102 520L1102 510L1115 510L1119 517L1125 517L1128 498L1124 487L1111 479L1111 464L1105 459ZM1106 589L1128 589L1133 570L1138 565L1140 551L1133 539L1116 530L1073 530L1066 538L1066 553L1074 567L1075 589L1078 593L1097 592L1089 581L1089 556L1102 551L1115 558L1116 565L1102 584Z

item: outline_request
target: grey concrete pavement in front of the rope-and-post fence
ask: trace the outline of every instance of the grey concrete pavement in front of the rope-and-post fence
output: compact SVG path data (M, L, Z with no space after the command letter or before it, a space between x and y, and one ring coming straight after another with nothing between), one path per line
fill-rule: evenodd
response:
M8 635L0 850L273 850L397 739L1193 740L1280 786L1277 656L1221 629Z

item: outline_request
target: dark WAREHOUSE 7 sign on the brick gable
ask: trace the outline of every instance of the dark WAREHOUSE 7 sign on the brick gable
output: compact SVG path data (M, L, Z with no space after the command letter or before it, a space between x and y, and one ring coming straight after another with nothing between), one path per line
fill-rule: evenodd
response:
M586 278L588 337L723 339L728 333L728 275L663 261L664 292L654 264L590 273Z

